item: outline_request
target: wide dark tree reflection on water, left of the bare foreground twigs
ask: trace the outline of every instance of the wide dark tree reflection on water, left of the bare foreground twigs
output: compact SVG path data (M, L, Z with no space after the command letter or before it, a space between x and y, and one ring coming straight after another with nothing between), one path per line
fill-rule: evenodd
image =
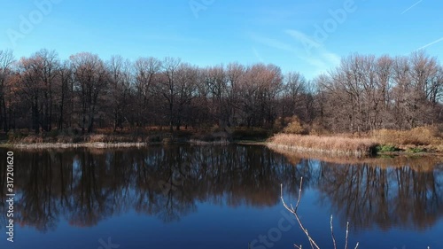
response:
M17 222L41 231L54 230L60 216L91 227L130 209L174 222L203 201L275 206L278 184L301 176L283 156L254 146L23 151L19 163Z

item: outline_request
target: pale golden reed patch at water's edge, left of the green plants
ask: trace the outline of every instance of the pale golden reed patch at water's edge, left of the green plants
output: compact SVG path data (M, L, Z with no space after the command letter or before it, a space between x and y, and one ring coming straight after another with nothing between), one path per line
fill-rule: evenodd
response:
M299 136L277 134L268 146L295 152L316 152L335 155L367 156L375 152L377 142L370 138L342 136Z

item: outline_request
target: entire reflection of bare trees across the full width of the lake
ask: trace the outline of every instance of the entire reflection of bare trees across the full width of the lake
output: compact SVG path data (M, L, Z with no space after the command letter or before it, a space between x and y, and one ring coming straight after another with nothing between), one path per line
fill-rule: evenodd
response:
M17 152L18 154L18 152ZM46 231L61 219L91 227L136 210L177 222L198 203L280 205L280 183L297 195L318 190L341 221L355 229L377 225L431 226L441 216L443 170L375 167L288 158L262 146L152 146L143 149L19 152L15 167L17 222ZM4 187L5 162L0 162ZM4 189L4 188L3 188ZM2 195L4 203L4 195ZM4 213L5 206L0 206Z

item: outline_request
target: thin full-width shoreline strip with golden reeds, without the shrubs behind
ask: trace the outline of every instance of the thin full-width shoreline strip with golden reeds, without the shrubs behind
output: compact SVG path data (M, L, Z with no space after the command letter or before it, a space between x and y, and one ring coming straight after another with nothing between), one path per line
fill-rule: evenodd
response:
M397 132L398 131L392 131ZM189 134L188 134L189 133ZM287 152L301 152L330 157L371 157L371 156L400 156L400 155L443 155L443 146L435 142L429 145L414 145L400 143L401 140L383 140L380 137L352 136L316 136L275 134L267 139L261 136L233 136L227 133L200 134L187 132L174 136L168 133L158 133L146 137L130 137L125 135L109 136L94 134L79 137L39 137L25 136L16 141L1 140L0 147L17 149L68 149L68 148L140 148L162 144L190 145L261 145L269 149ZM256 135L256 134L255 134ZM410 136L407 136L410 137ZM36 139L39 138L39 139ZM70 138L70 139L68 139ZM237 138L237 139L236 139ZM383 137L382 137L383 138ZM46 140L46 141L45 141ZM439 140L437 140L439 141ZM398 143L396 143L398 142Z

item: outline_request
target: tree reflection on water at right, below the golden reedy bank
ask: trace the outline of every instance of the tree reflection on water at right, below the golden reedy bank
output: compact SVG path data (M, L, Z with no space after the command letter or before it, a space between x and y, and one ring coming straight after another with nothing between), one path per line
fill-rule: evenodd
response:
M426 229L443 214L443 171L321 163L323 200L354 228Z

